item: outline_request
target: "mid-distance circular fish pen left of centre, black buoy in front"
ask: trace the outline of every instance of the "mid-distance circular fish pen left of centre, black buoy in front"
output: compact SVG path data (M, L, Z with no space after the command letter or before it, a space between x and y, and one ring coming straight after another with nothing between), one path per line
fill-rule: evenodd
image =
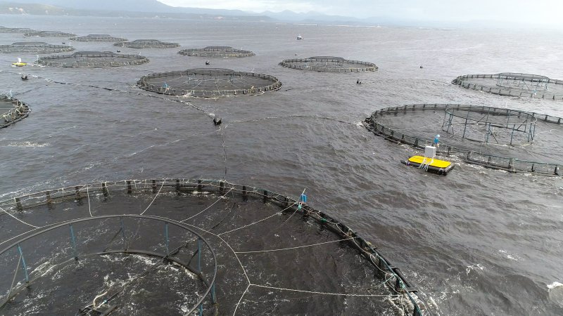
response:
M171 96L219 97L274 91L281 87L281 82L268 74L196 68L148 74L141 77L137 86Z

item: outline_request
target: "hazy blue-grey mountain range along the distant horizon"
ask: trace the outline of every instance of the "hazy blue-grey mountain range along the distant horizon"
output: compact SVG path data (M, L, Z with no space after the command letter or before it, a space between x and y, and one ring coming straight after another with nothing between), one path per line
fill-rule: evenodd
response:
M430 28L458 27L529 27L526 23L474 21L409 20L397 16L380 15L372 18L353 18L292 11L251 13L241 10L184 8L167 6L157 0L0 0L0 14L119 16L131 18L185 18L198 20L241 20L302 22L310 24L415 26Z

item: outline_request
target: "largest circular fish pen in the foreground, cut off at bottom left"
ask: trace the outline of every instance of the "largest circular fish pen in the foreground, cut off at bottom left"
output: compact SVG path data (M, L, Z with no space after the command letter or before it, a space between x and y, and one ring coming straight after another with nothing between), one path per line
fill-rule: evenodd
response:
M0 202L0 312L425 315L399 268L303 196L173 179Z

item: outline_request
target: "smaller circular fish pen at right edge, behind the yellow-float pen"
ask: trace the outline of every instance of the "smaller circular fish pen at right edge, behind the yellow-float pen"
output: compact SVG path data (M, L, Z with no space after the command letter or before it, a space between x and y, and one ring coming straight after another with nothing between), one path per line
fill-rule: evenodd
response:
M563 100L563 81L538 74L464 74L453 79L452 84L500 96Z

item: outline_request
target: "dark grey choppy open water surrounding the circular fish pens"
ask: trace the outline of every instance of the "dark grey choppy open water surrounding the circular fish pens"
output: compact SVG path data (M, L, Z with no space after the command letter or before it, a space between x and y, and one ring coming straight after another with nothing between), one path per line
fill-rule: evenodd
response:
M379 108L410 103L493 105L562 117L560 102L450 84L473 73L563 79L562 32L11 15L1 24L175 41L182 48L248 49L256 56L213 59L213 67L272 74L284 84L262 96L184 99L222 117L218 131L205 112L149 98L134 86L150 72L203 67L205 58L177 55L176 48L143 49L151 62L139 67L20 70L9 67L18 56L2 54L0 91L11 90L33 111L0 133L3 199L96 180L223 178L226 169L234 183L293 196L306 188L313 207L360 232L405 271L436 314L560 315L563 302L553 292L550 298L549 287L563 283L561 178L463 162L447 177L431 176L399 163L412 153L409 147L359 123ZM296 34L304 40L296 41ZM0 34L0 44L21 40L67 41ZM110 43L72 46L115 51ZM379 72L324 74L277 65L296 54L365 60ZM21 81L18 71L49 80Z

